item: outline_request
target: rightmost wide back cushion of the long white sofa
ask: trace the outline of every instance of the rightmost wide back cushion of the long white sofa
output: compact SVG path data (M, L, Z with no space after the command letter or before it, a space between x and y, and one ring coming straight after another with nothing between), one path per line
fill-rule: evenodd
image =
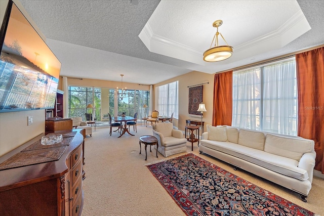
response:
M304 153L311 152L313 149L311 140L286 138L272 134L267 134L264 145L265 152L298 161Z

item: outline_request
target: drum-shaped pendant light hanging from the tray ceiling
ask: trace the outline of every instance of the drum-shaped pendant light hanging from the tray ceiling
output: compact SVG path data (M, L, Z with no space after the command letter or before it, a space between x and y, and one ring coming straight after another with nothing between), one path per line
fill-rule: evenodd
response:
M214 35L214 38L212 40L211 47L213 45L213 42L215 40L215 45L213 48L210 48L204 52L204 61L206 62L218 62L218 61L223 61L225 59L228 59L231 57L233 53L233 48L231 46L228 46L226 40L224 39L223 35L218 32L218 27L223 24L222 20L216 20L213 23L213 27L217 28L217 32ZM221 35L223 40L225 41L227 46L218 46L218 35Z

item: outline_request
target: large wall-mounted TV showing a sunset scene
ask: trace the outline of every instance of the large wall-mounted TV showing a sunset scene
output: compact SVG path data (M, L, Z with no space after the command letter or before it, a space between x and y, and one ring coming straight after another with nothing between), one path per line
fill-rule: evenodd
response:
M0 36L0 112L54 108L61 63L12 0Z

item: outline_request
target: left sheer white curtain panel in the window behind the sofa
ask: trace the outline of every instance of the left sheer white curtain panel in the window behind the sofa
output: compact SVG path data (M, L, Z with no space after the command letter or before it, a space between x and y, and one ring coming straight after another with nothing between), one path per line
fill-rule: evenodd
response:
M232 125L260 130L260 69L233 73Z

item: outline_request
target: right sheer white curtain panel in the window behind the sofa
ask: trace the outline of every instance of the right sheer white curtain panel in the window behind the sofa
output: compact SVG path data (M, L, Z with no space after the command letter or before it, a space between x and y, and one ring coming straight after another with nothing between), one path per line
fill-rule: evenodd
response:
M297 135L295 61L263 68L263 131Z

